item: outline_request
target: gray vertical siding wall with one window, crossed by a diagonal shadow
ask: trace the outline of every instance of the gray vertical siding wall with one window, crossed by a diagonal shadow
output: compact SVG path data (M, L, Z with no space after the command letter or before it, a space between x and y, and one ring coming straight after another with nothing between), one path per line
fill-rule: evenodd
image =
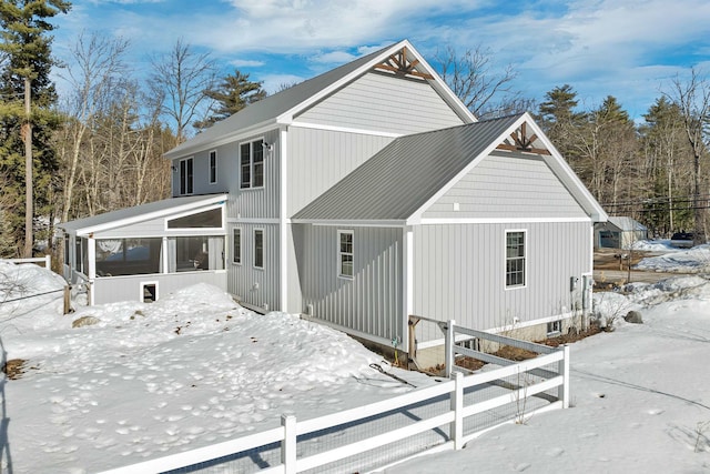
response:
M303 304L338 326L390 341L402 324L402 229L298 224ZM337 276L337 231L354 231L354 276ZM298 246L297 246L298 248Z

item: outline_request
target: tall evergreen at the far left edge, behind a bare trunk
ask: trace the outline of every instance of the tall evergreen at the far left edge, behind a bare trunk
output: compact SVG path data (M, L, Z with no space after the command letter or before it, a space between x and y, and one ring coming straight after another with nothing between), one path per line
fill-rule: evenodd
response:
M63 0L3 0L0 2L0 51L6 61L0 71L0 173L8 177L3 192L26 195L24 221L17 212L4 218L16 229L13 240L31 256L33 209L51 208L52 172L57 160L50 140L59 124L51 112L57 92L50 80L53 26L48 19L67 13ZM38 192L34 193L34 190ZM0 232L7 232L7 226ZM7 239L7 235L6 235Z

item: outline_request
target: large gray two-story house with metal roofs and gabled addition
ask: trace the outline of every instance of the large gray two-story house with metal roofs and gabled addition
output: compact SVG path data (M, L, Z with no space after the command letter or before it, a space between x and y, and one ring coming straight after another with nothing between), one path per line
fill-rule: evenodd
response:
M224 279L247 307L403 351L412 314L545 334L579 306L594 223L606 220L529 114L477 122L407 41L253 103L166 157L174 198L158 214L148 204L64 225L68 272L95 302L113 297L99 295L105 279L131 294L148 280L172 289L183 275L171 245L202 238L220 263L185 273ZM170 225L210 209L223 212L213 226ZM162 239L161 271L101 276L92 259L118 236Z

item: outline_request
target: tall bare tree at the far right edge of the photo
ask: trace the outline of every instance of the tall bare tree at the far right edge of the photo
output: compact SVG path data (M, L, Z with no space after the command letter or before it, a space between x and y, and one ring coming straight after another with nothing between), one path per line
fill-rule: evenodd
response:
M710 83L693 68L690 78L671 81L671 92L666 94L680 109L686 137L692 151L694 243L706 242L704 214L707 200L701 200L701 161L708 158L708 125L710 123Z

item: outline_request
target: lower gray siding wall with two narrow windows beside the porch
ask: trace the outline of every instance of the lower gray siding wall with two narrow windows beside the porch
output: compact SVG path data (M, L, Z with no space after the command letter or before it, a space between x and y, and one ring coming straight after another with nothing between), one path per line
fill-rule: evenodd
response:
M233 263L233 229L242 229L242 263ZM254 268L254 229L264 230L264 268ZM278 294L281 271L278 255L278 224L233 223L227 240L227 291L253 306L270 310L281 307Z

